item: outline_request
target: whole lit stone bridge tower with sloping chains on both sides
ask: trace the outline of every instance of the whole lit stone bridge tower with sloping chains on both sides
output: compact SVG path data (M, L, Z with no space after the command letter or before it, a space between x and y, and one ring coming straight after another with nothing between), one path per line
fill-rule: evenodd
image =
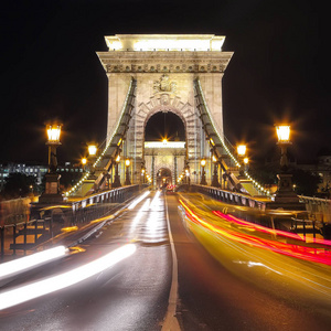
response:
M243 171L224 135L222 78L233 55L222 51L224 36L105 39L108 51L97 55L108 77L107 138L89 171L66 195L85 196L147 181L153 186L190 182L268 194ZM146 141L146 127L158 113L180 118L182 141L179 137Z

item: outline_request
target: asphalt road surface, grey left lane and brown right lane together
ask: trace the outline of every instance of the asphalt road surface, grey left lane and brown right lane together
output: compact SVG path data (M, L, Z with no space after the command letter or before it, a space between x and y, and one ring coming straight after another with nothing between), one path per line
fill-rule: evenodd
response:
M128 243L137 248L86 280L3 309L0 330L164 331L169 316L174 321L171 330L330 330L330 297L306 296L305 288L293 290L280 271L239 265L227 250L217 258L212 247L225 242L210 241L207 232L188 226L177 195L154 196L151 193L107 223L81 245L85 252L25 273L1 288L0 295L90 263ZM263 258L275 259L275 253L264 253ZM173 267L178 267L174 273Z

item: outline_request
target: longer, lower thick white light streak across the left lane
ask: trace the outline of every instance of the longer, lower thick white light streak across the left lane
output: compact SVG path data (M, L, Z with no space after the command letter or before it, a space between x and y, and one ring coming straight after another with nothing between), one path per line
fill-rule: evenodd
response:
M136 249L135 244L128 244L71 271L2 292L0 293L0 310L81 282L131 256Z

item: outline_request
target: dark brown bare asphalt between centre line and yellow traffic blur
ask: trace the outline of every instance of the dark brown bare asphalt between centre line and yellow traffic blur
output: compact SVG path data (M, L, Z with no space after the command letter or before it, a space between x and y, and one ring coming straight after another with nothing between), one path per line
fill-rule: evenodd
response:
M179 264L178 319L183 330L329 330L305 307L237 278L188 233L174 196L169 217Z

